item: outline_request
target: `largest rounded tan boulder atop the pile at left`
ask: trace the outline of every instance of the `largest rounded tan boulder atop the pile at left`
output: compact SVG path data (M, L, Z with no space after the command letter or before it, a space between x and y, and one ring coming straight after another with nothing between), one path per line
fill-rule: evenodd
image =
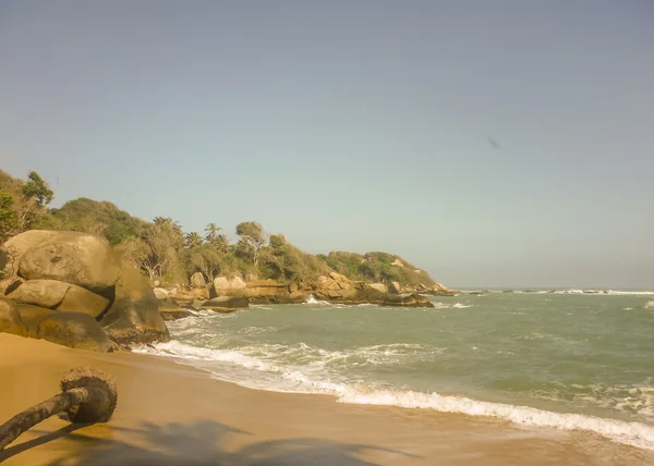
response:
M111 297L120 256L109 244L86 233L33 230L4 244L5 277L57 280Z

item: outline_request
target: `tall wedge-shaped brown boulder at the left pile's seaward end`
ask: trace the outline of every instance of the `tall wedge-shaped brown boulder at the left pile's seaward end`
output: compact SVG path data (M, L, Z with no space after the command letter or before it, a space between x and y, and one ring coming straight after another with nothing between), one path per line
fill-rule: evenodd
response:
M159 312L159 299L149 281L126 260L121 261L116 298L100 324L119 343L152 343L170 340Z

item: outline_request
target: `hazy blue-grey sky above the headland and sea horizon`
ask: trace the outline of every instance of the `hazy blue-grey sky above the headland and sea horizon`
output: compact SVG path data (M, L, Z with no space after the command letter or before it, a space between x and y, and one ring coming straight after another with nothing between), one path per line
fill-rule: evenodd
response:
M0 169L455 287L654 287L654 2L0 2Z

